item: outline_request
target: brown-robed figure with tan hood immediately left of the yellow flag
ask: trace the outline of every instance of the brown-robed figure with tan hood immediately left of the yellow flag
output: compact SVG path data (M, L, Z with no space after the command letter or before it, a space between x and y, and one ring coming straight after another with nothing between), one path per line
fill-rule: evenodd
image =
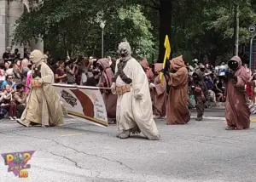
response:
M154 82L149 84L149 88L153 89L153 114L154 118L160 119L166 117L166 78L164 84L160 82L160 71L163 64L154 64Z

